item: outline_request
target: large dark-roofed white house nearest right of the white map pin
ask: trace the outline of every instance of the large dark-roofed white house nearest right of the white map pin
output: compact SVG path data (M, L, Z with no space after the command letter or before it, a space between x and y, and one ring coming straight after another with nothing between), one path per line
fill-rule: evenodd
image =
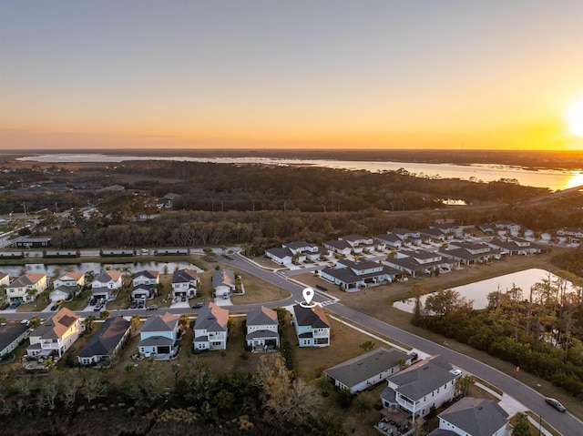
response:
M326 267L320 271L320 277L341 286L347 292L361 288L390 283L399 274L397 269L382 265L372 260L340 259L334 268Z

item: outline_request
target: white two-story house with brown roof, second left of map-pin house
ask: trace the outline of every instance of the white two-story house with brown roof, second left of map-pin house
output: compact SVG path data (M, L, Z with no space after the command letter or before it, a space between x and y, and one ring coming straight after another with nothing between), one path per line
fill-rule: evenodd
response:
M199 316L194 323L195 351L225 350L229 335L229 310L209 303L199 310Z

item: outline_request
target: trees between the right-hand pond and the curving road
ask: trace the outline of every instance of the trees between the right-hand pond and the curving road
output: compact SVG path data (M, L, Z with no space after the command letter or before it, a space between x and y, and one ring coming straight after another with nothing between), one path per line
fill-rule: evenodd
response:
M583 399L583 286L544 279L526 292L518 287L488 293L486 309L453 289L441 289L424 304L414 285L413 323L512 362Z

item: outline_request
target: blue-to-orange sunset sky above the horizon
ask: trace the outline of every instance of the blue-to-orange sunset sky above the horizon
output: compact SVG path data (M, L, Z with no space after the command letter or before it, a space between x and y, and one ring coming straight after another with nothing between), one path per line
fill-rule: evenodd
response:
M583 149L581 101L580 0L0 0L2 149Z

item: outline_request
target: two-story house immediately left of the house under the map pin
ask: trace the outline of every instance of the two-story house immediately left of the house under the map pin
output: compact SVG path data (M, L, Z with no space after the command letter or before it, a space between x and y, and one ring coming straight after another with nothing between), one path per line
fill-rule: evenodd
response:
M276 350L280 347L280 323L277 312L261 306L247 313L245 340L252 351Z

